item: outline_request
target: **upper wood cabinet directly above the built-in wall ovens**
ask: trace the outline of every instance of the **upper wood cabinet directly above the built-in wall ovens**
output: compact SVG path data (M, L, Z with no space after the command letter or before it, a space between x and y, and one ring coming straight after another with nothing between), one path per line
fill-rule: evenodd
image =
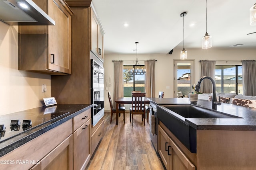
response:
M104 60L104 31L100 24L99 18L94 12L94 7L91 5L91 51L99 57L102 61Z

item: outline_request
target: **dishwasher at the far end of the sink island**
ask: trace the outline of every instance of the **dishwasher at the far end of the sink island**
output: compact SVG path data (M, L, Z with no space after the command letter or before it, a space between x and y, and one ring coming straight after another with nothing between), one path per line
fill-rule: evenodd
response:
M157 113L156 113L156 105L152 104L150 102L150 106L149 106L149 125L150 125L150 139L152 141L152 144L156 150L156 152L158 152L158 145L157 145L157 141L158 141L158 119L157 119Z

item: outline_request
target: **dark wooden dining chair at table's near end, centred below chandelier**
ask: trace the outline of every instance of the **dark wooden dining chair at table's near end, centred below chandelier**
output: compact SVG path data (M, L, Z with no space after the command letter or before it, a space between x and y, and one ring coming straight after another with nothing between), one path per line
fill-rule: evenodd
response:
M146 93L132 93L132 106L130 107L130 121L133 124L133 115L141 115L142 121L144 118L144 125L145 125L145 100L146 100Z

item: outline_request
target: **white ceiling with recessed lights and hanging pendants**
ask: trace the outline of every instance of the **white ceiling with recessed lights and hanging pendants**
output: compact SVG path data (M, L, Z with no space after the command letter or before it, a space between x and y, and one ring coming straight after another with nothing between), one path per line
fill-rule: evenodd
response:
M167 54L174 47L201 49L206 33L206 0L92 0L103 25L105 54ZM249 23L255 0L208 0L207 32L212 48L256 48ZM124 27L128 23L128 27ZM194 24L194 26L191 26Z

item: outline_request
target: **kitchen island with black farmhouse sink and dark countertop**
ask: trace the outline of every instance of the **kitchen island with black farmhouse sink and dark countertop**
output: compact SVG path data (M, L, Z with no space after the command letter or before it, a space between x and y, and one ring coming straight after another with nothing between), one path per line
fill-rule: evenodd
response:
M231 115L231 118L180 118L166 107L191 105L210 112L212 103L198 100L193 105L188 98L148 100L157 106L158 153L166 169L176 169L177 166L197 170L255 169L256 108L222 103L216 111ZM187 129L174 128L179 123L187 125ZM187 138L182 138L186 135ZM191 148L191 145L195 147Z

